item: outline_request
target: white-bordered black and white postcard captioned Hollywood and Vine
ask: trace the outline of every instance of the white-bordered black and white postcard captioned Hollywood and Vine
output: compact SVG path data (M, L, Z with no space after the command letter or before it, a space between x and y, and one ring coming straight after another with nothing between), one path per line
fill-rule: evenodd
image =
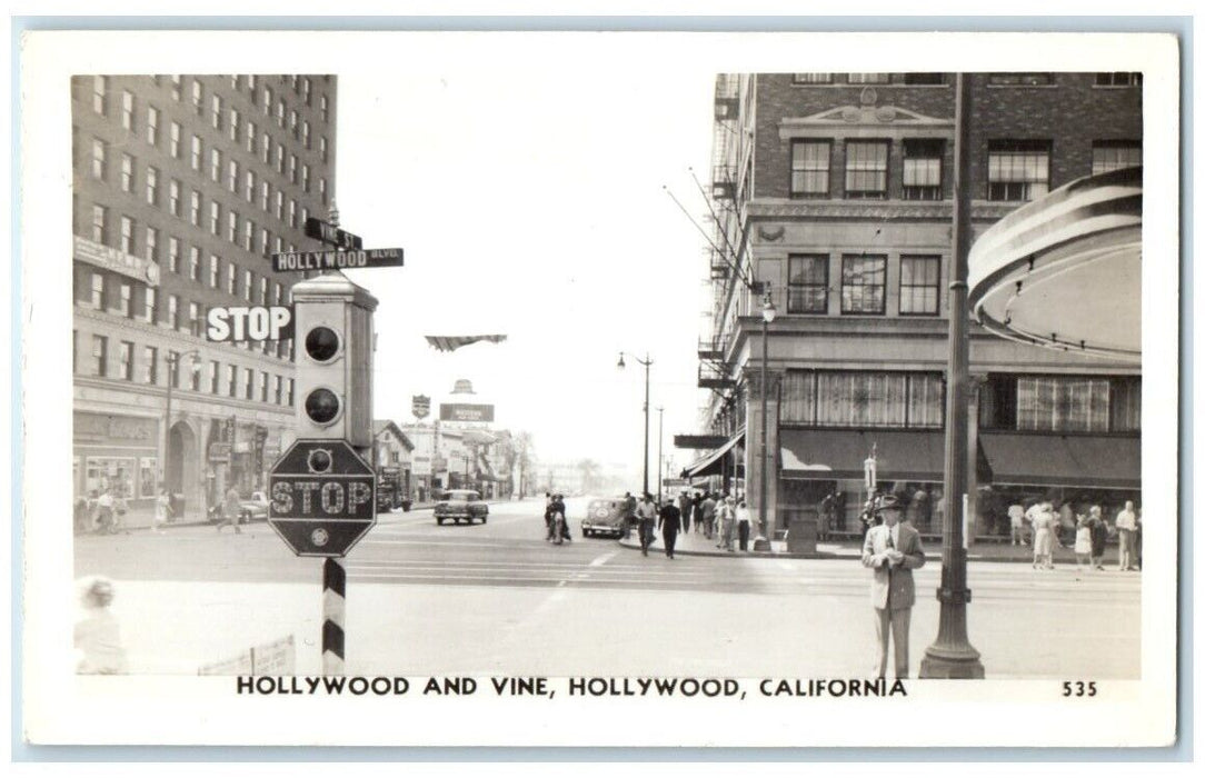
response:
M30 743L1175 742L1175 36L23 48Z

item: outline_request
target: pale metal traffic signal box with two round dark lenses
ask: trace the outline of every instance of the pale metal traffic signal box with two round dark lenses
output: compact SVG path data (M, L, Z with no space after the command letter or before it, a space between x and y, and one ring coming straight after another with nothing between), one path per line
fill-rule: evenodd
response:
M372 312L377 301L342 273L292 289L296 316L299 438L372 446Z

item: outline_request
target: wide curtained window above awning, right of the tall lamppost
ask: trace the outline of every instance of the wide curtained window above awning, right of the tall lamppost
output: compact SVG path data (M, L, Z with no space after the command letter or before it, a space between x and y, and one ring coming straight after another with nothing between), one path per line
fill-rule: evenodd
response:
M1017 429L1107 431L1109 381L1064 376L1017 378Z

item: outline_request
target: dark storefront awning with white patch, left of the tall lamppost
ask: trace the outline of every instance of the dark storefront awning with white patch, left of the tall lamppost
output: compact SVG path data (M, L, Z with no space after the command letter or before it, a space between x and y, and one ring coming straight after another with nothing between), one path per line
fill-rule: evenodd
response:
M945 468L940 430L782 430L778 441L784 478L860 481L872 446L880 481L941 481Z

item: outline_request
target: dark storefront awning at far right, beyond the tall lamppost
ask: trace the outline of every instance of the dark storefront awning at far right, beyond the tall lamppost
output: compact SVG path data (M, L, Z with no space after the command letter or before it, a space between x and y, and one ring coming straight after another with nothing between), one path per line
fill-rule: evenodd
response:
M1104 435L980 432L992 483L1140 489L1142 441Z

